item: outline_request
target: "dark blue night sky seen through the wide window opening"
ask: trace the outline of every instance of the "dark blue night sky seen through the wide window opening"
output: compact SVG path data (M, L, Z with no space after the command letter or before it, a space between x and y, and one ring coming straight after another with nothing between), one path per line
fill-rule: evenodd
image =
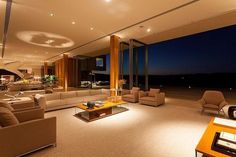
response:
M139 50L143 74L144 51ZM109 71L109 55L107 71ZM125 54L128 74L128 53ZM149 74L236 73L236 25L149 46Z

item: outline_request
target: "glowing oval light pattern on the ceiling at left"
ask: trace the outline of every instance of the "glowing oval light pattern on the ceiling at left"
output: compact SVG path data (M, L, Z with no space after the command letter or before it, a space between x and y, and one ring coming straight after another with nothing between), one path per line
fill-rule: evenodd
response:
M67 48L74 45L71 39L48 32L21 31L16 36L26 43L43 47Z

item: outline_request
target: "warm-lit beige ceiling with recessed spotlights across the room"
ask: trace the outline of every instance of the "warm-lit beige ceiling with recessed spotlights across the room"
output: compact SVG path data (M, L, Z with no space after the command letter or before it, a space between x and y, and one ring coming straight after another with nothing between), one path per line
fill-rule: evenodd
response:
M33 67L64 52L107 53L111 34L154 43L236 24L235 0L107 1L13 0L4 61ZM1 39L5 8L0 0Z

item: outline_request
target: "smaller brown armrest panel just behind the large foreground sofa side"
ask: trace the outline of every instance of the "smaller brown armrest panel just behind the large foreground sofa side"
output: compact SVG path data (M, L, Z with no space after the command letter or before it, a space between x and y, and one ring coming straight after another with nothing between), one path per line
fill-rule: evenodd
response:
M43 119L44 118L44 109L35 108L32 110L24 110L20 112L13 112L19 122L26 122L35 119Z

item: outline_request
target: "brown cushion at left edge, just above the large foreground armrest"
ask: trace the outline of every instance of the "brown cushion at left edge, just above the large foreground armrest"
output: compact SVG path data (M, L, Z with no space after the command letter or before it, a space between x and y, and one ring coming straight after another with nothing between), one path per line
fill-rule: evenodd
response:
M6 127L17 124L19 121L16 116L8 108L0 107L0 125Z

